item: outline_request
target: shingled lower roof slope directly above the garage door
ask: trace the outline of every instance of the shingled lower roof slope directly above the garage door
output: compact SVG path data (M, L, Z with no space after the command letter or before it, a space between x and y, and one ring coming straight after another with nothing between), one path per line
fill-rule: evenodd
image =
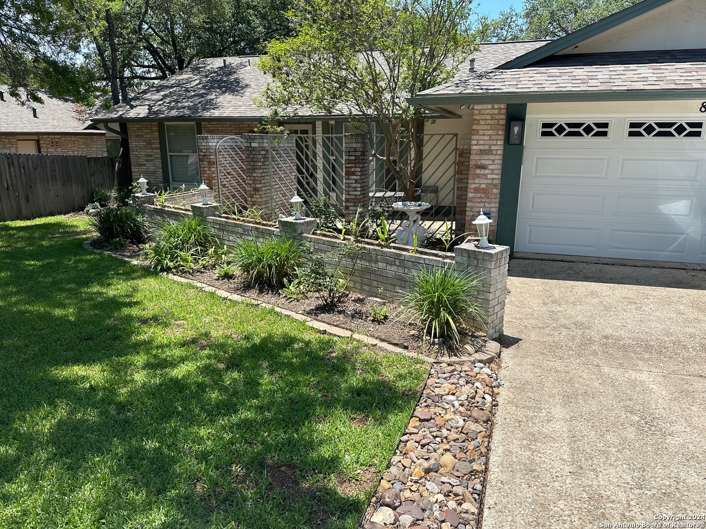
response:
M507 70L477 71L426 95L670 90L706 87L706 49L567 54Z

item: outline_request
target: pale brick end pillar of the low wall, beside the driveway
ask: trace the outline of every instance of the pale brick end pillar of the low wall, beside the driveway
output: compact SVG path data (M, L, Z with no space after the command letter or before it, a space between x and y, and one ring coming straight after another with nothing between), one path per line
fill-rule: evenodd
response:
M486 321L469 320L467 324L495 339L503 334L505 292L508 283L509 246L491 246L481 250L473 244L460 244L454 249L456 268L481 277L478 303Z

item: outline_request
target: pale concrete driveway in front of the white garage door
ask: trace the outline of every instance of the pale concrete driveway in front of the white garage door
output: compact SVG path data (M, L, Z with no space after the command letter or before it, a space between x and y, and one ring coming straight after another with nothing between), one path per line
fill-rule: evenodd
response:
M706 272L513 260L508 288L483 528L706 515Z

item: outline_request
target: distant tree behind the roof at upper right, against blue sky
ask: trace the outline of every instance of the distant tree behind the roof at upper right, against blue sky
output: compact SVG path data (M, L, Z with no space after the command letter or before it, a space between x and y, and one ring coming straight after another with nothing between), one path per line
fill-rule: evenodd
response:
M640 0L525 0L520 11L510 7L496 18L481 17L489 41L556 39L605 18Z

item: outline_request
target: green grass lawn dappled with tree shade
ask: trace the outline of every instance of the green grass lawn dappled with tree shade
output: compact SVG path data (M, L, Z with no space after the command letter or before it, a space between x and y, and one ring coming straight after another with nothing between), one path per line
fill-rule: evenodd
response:
M356 527L424 365L89 236L0 224L0 527Z

